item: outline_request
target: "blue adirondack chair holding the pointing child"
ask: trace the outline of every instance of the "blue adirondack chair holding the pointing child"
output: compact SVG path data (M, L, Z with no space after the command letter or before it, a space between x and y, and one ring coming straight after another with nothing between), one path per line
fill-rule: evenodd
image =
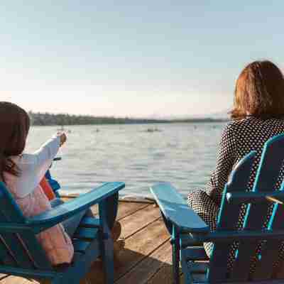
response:
M92 262L101 257L106 283L114 283L114 251L110 230L123 182L107 182L79 197L32 218L23 216L5 184L0 182L0 273L53 284L80 283ZM35 235L94 204L99 218L84 217L72 240L70 265L53 267Z

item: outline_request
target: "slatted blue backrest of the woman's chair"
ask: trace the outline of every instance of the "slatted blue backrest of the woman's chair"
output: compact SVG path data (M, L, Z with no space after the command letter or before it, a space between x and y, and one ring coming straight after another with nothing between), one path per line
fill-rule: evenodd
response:
M228 238L222 239L222 241L214 241L210 269L207 275L212 283L232 280L239 282L250 280L269 281L284 278L283 261L280 261L277 268L273 267L273 264L278 260L284 234L278 234L275 239L271 239L267 235L262 238L262 234L264 235L265 232L273 235L275 231L284 229L284 207L283 204L280 204L280 201L277 201L278 195L283 197L284 183L281 185L280 190L275 192L275 184L280 170L283 168L284 135L275 136L266 142L253 185L253 196L247 198L251 193L247 191L247 185L255 155L255 152L246 155L236 166L229 182L226 184L216 234L219 232L224 234L225 231ZM270 192L275 198L269 200ZM239 198L239 202L238 199L235 202L229 202L228 194L233 195L234 193L238 193L239 197L242 197ZM241 206L244 207L244 204L246 204L246 214L241 233L257 233L251 234L251 237L247 236L246 239L241 238L239 236L240 231L236 229ZM271 206L273 207L273 214L269 219L268 229L263 230L268 208ZM261 253L255 257L260 242L263 244ZM228 273L227 262L233 243L238 245L238 249L234 256L234 266ZM254 272L251 272L250 267L253 263L255 263L255 268L253 269Z

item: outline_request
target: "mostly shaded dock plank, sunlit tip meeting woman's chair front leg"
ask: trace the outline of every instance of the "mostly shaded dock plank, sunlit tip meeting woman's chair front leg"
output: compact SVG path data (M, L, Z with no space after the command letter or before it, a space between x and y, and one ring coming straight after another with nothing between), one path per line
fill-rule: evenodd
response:
M148 283L148 280L152 278L157 271L165 265L171 267L172 259L172 247L170 242L167 241L165 244L160 246L158 249L153 251L149 256L138 263L129 273L126 273L123 277L116 281L117 284L125 283L136 283L143 284Z

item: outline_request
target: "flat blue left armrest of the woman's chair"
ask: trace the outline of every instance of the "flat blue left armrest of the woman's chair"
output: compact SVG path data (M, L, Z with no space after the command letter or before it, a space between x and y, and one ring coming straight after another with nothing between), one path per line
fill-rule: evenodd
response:
M158 183L150 188L165 219L178 226L180 231L207 233L209 226L188 207L185 199L170 183Z

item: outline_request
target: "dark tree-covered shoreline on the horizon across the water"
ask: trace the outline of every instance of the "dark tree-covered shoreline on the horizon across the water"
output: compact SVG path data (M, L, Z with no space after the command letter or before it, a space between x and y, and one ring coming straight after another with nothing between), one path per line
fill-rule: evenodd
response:
M133 119L129 117L118 118L114 116L84 116L72 114L50 114L29 112L34 126L67 126L88 124L165 124L176 122L215 122L226 119L192 118L192 119Z

